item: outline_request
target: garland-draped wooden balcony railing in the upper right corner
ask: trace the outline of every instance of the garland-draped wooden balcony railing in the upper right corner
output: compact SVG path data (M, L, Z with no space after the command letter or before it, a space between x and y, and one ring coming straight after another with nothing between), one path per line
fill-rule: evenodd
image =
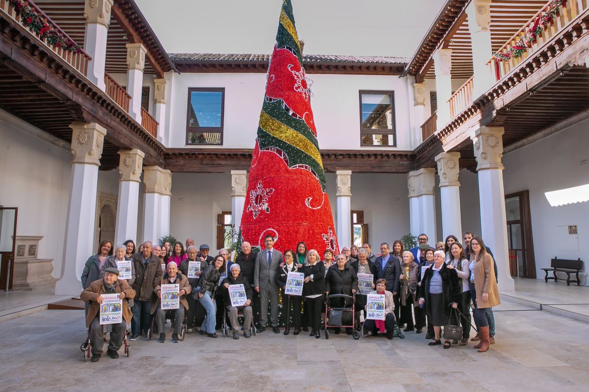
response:
M489 60L500 81L587 9L587 0L550 0Z

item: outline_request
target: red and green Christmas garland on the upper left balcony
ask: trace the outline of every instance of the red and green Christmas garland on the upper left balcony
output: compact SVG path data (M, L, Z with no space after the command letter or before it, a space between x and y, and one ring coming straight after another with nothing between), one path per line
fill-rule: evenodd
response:
M23 0L9 0L10 5L16 11L16 15L21 17L21 24L37 33L41 40L45 39L47 43L56 48L62 48L65 51L81 53L82 48L69 38L61 35L61 32L49 26L43 21L43 17L29 5L25 6Z

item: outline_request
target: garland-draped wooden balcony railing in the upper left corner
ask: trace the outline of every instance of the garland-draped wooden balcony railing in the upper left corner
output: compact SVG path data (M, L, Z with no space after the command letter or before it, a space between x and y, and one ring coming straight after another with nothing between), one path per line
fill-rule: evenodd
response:
M16 5L16 9L15 9ZM39 41L43 42L51 51L70 63L82 75L88 71L88 61L92 58L82 50L45 12L32 1L15 2L0 0L0 10L8 14L16 22L27 28ZM27 18L21 20L21 14Z

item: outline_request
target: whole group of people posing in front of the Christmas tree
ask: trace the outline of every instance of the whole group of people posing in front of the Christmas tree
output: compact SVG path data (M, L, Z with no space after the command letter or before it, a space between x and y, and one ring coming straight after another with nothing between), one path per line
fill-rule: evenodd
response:
M90 328L91 361L100 360L103 347L102 326L98 320L101 294L118 293L123 300L123 322L112 328L107 355L116 358L123 343L128 324L131 324L129 340L147 336L157 329L160 343L166 341L165 321L172 321L172 341L179 341L183 320L187 333L200 332L217 338L216 330L223 325L226 316L233 339L239 339L239 316L243 317L243 337L252 336L272 328L280 333L282 321L284 335L298 335L310 330L310 336L320 337L325 328L325 300L330 294L346 294L338 297L339 306L355 301L356 325L363 321L365 333L385 334L388 339L403 336L399 330L422 333L427 328L426 339L430 346L442 344L441 327L461 324L462 340L444 341L444 349L452 343L464 346L471 333L471 303L478 341L475 348L487 351L495 343L495 322L492 307L499 304L497 289L497 265L491 250L481 237L464 233L464 246L455 236L448 236L443 246L434 249L425 234L418 236L418 246L403 249L400 240L380 244L380 254L372 253L368 243L361 248L343 247L342 253L332 249L323 252L323 259L315 249L307 250L305 242L296 250L282 253L274 249L274 238L264 237L264 249L256 251L248 242L241 244L241 251L230 260L230 252L221 249L215 257L209 256L210 247L201 244L197 250L193 239L176 242L173 247L164 242L153 245L147 241L135 249L132 240L113 246L105 240L98 252L87 260L82 273L84 292L81 299L87 301L87 327ZM186 245L186 250L185 250ZM437 246L436 246L437 248ZM131 279L118 279L118 262L131 260ZM196 272L188 277L190 262L199 262ZM289 272L304 276L301 296L286 294ZM372 274L372 293L383 294L385 319L365 319L367 296L358 292L358 274ZM174 310L161 309L161 285L178 284L180 306ZM243 284L247 300L243 306L231 306L229 287ZM280 294L282 293L282 295ZM282 301L282 320L279 320L279 296ZM241 314L240 314L241 313ZM154 326L152 326L152 323ZM329 323L327 323L329 324ZM333 328L336 334L340 328ZM352 334L351 329L345 329Z

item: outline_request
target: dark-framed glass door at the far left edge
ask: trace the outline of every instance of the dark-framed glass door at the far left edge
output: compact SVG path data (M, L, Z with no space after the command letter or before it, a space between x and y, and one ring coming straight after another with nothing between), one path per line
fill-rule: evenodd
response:
M0 290L12 290L17 208L0 207Z

